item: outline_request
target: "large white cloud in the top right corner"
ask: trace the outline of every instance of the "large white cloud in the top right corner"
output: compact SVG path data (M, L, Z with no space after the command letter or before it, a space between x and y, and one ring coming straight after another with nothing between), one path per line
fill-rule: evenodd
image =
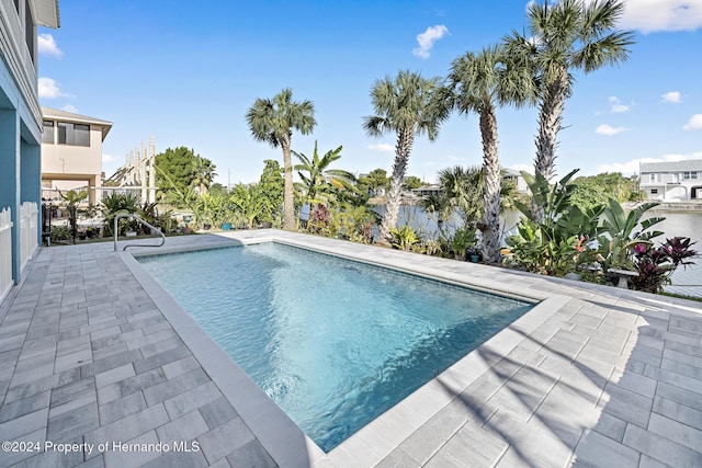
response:
M644 34L659 31L694 31L702 26L700 0L629 0L619 24Z

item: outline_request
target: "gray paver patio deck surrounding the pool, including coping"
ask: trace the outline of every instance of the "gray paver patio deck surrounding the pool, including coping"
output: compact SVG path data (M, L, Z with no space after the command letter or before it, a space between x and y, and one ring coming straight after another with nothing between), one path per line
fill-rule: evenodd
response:
M702 466L699 303L270 230L156 252L272 238L544 300L324 454L131 254L42 249L0 306L0 466Z

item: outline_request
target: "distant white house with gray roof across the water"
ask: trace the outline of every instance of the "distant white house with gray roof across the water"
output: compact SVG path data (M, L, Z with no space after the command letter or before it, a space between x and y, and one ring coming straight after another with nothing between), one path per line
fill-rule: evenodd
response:
M649 199L702 199L702 159L642 162L639 187Z

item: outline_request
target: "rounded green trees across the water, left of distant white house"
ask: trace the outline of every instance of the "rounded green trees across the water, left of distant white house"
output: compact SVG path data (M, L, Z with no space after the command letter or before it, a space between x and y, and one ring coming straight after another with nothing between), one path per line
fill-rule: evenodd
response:
M624 178L621 172L580 176L575 179L573 184L575 189L570 201L582 210L602 205L609 198L624 203L639 201L643 197L636 180Z

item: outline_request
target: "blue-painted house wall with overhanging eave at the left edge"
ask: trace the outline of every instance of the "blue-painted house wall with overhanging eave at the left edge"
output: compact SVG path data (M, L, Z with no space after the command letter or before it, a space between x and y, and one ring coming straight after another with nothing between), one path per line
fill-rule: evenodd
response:
M0 299L41 239L37 24L59 26L58 0L0 0Z

